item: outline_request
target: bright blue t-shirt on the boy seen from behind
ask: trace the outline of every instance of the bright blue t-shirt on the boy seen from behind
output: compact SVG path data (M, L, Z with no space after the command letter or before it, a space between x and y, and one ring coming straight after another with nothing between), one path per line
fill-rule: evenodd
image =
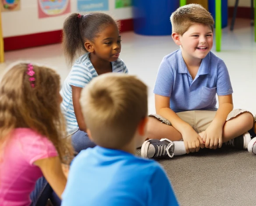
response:
M74 158L62 206L178 205L161 166L133 154L96 146Z

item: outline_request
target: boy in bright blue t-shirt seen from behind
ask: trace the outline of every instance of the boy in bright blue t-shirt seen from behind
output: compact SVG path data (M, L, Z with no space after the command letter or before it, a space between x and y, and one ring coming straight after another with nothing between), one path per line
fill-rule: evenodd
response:
M82 90L80 104L98 146L74 158L62 206L178 205L162 167L134 155L147 130L147 86L131 75L101 75Z

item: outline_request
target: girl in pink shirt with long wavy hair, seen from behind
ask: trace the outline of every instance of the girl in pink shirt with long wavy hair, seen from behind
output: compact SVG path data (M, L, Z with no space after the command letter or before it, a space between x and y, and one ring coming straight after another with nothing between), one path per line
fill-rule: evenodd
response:
M0 83L0 205L29 206L44 175L61 197L61 162L73 154L60 111L60 76L52 69L20 63Z

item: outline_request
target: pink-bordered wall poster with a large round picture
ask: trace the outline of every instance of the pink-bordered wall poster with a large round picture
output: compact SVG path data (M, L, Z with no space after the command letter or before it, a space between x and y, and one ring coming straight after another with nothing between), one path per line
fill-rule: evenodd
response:
M56 17L70 13L70 0L38 0L38 17Z

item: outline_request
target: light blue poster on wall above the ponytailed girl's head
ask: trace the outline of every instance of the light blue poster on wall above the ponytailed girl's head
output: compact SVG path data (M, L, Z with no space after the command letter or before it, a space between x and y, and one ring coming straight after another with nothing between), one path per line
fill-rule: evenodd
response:
M109 0L78 0L78 11L108 11Z

